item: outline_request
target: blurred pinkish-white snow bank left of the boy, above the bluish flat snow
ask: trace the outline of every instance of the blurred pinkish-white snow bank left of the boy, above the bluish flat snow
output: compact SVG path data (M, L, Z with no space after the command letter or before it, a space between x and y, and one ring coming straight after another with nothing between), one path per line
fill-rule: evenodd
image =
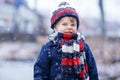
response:
M36 43L29 42L2 42L0 43L0 59L34 59L39 51Z

